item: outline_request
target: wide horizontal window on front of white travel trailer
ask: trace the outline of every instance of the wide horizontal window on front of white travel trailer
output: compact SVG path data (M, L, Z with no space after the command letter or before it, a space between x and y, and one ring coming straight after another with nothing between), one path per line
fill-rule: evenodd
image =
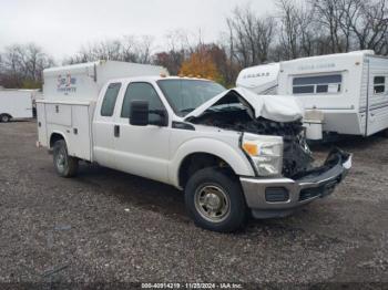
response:
M341 83L343 75L340 74L294 77L293 94L339 93Z

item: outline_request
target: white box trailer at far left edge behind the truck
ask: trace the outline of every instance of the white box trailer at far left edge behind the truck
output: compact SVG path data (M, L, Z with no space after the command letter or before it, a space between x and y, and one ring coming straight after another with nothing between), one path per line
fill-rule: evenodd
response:
M32 96L34 90L0 90L0 122L32 117Z

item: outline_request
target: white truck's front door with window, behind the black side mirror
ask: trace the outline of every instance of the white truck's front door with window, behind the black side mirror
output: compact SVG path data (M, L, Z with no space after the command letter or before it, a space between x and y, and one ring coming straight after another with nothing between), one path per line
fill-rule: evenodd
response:
M146 178L169 180L169 126L133 126L130 124L131 101L147 101L149 108L165 110L156 90L147 82L132 82L123 97L118 103L116 123L120 126L120 136L114 139L118 154L118 168ZM159 117L150 114L150 122Z

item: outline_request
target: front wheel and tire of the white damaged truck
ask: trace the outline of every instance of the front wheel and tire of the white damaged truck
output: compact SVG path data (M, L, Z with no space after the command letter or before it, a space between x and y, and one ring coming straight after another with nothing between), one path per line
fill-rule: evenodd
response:
M196 226L231 232L243 228L247 207L239 180L218 168L196 172L185 187L185 205Z

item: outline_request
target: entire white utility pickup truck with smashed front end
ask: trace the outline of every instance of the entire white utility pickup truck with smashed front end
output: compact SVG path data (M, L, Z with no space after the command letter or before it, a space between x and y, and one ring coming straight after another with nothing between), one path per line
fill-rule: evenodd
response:
M196 225L233 231L248 214L286 216L330 194L351 166L335 149L313 167L293 97L160 76L157 66L110 80L120 71L110 65L119 64L44 71L38 145L53 152L60 176L86 160L166 183L184 190Z

